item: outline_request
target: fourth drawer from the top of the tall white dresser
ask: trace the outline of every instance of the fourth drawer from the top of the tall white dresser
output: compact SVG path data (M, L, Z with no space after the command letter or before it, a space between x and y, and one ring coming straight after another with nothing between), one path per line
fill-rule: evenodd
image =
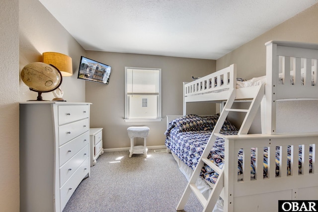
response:
M89 145L82 148L74 157L60 167L60 186L62 186L73 174L85 159L89 157Z

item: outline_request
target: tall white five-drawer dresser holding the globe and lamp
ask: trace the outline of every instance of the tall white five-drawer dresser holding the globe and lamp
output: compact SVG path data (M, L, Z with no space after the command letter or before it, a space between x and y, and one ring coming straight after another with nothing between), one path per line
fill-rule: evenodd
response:
M20 103L20 212L62 212L90 175L90 103Z

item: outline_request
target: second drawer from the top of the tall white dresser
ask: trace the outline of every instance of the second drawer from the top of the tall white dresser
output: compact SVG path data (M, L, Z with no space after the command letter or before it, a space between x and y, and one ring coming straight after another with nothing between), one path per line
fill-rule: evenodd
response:
M59 145L71 141L89 130L88 118L77 122L59 126Z

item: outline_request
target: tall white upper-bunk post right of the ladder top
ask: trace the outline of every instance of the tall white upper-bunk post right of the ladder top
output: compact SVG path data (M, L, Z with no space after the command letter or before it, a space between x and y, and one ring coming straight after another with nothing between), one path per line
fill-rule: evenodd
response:
M277 44L273 42L266 43L266 111L262 112L263 123L265 122L265 133L276 134L276 85L278 78L278 57ZM276 76L277 75L277 76ZM263 132L262 132L263 133Z

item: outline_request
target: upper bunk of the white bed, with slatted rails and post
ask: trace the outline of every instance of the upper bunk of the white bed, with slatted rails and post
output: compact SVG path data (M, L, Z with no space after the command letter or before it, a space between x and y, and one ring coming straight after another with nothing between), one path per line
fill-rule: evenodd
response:
M235 64L184 83L183 115L186 114L188 102L227 101L231 88L239 87L236 90L237 100L251 99L255 92L254 86L251 85L266 82L266 99L261 104L262 127L264 133L272 135L276 134L276 100L317 99L318 44L270 41L265 45L266 75L258 77L257 80L252 79L252 83L237 82ZM242 87L238 86L238 83L248 85Z

